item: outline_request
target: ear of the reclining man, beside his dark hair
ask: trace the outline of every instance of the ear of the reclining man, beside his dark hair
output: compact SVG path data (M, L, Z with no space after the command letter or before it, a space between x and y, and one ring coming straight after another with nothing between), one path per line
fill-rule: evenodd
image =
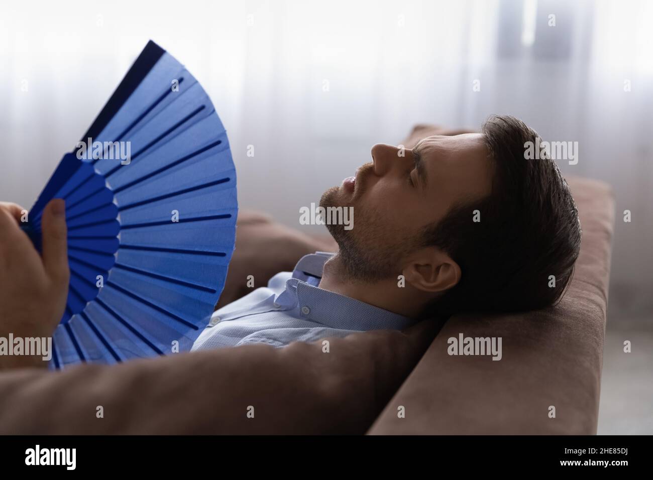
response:
M462 276L460 266L435 247L422 248L410 255L402 274L416 289L433 293L453 288Z

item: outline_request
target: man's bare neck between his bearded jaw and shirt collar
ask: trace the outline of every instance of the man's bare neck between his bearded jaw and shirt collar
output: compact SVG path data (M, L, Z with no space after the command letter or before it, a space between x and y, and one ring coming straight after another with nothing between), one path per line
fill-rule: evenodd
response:
M410 285L400 287L398 278L375 282L352 281L343 273L345 269L341 262L337 254L328 259L324 265L319 288L409 318L416 318L424 308L425 302L420 292Z

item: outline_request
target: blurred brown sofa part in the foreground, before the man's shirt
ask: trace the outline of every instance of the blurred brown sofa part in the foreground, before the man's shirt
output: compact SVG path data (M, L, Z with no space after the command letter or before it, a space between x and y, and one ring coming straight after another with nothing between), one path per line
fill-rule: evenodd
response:
M363 434L437 327L330 338L328 353L322 341L293 342L10 370L0 434Z

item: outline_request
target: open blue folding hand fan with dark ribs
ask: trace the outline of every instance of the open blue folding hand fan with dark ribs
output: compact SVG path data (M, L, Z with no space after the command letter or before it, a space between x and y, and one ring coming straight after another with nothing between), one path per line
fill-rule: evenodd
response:
M184 351L224 287L236 170L204 89L154 42L29 212L66 201L71 281L50 368Z

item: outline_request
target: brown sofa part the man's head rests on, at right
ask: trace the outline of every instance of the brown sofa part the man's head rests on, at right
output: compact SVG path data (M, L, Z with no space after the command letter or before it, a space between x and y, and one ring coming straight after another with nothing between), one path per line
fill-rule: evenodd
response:
M614 200L602 182L567 180L582 245L560 304L449 319L369 434L596 434ZM448 355L461 332L502 337L502 360Z

